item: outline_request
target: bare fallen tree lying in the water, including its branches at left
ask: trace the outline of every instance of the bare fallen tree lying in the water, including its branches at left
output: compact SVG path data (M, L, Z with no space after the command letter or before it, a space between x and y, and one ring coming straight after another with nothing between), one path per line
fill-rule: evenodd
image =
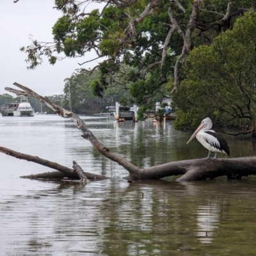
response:
M12 88L5 88L5 90L13 92L16 95L35 97L36 99L49 106L49 108L56 111L58 115L64 118L70 118L74 122L76 122L77 128L83 133L83 138L90 141L90 143L92 143L92 145L97 148L97 150L99 150L102 155L120 164L125 168L125 170L129 172L129 176L125 177L125 179L127 180L133 181L138 179L161 179L173 175L182 175L177 179L177 181L205 180L208 178L214 179L223 175L226 175L228 179L241 179L242 176L256 175L256 157L240 157L233 159L191 159L161 164L159 166L153 166L146 169L138 168L137 166L134 166L132 163L127 161L127 159L125 159L124 157L118 156L115 153L111 152L108 148L104 147L97 140L97 138L95 138L92 132L86 128L86 125L84 124L83 120L79 118L79 116L70 111L67 111L66 109L61 108L60 106L57 106L47 97L42 97L25 86L17 83L14 84L24 91L15 90ZM33 161L35 163L48 166L50 168L54 168L55 170L62 172L63 175L67 176L68 178L79 179L77 173L74 172L74 170L65 166L61 166L60 164L53 163L45 159L40 159L36 156L29 156L26 154L15 152L4 147L0 147L0 152L4 152L5 154L17 157L19 159L26 159L28 161ZM58 176L56 172L49 173L48 176L53 177L54 175ZM107 177L104 177L102 175L94 175L92 173L85 173L85 175L90 180L108 179ZM36 175L34 175L33 177L35 176ZM41 173L36 177L40 177L38 179L47 179L43 178L47 177L47 174ZM27 176L27 178L31 178L31 175Z

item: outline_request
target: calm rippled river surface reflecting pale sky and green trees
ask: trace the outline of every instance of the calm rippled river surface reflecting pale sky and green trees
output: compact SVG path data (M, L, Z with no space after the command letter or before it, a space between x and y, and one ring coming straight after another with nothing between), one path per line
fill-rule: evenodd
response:
M81 116L105 147L142 167L207 156L191 133L170 122L117 123ZM230 157L254 156L250 140L226 136ZM0 153L0 256L256 255L256 180L225 177L129 183L127 171L56 115L0 116L0 146L111 179L21 179L51 169ZM218 157L225 157L218 154Z

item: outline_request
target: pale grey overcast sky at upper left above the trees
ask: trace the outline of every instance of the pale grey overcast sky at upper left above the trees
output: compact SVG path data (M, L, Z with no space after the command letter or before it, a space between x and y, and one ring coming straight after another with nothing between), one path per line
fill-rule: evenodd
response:
M20 52L20 47L31 44L30 35L38 41L53 42L52 26L61 17L61 12L52 9L54 0L0 0L0 94L13 93L4 90L4 87L12 87L14 82L27 86L41 94L54 95L61 94L64 88L64 79L70 77L76 68L89 68L97 65L98 61L79 66L92 58L83 58L57 61L55 65L50 65L47 58L44 63L36 67L35 70L26 68L26 54ZM86 11L92 10L88 6ZM93 6L93 9L98 6Z

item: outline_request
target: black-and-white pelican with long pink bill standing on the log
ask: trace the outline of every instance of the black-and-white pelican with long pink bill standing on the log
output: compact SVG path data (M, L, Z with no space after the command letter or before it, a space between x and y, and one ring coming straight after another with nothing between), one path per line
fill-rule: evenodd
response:
M210 159L211 152L215 152L213 159L216 159L217 152L225 153L229 156L230 151L228 148L228 143L225 139L220 136L220 134L210 130L212 127L212 120L207 117L202 120L202 123L196 129L194 134L191 136L187 144L195 138L209 150L208 156L206 159Z

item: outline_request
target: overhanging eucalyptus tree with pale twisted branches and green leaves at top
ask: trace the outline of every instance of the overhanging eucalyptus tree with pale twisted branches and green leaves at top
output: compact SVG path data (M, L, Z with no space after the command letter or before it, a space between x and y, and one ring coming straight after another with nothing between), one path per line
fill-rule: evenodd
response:
M86 12L86 6L100 3L102 10ZM179 88L184 78L186 56L198 45L210 45L221 31L232 29L236 17L255 8L255 0L56 0L56 10L63 16L52 28L54 41L22 47L28 68L42 63L43 56L53 65L61 58L81 58L88 63L88 52L95 52L99 70L93 82L95 94L115 84L123 76L137 104L150 104ZM60 56L60 54L63 54Z

